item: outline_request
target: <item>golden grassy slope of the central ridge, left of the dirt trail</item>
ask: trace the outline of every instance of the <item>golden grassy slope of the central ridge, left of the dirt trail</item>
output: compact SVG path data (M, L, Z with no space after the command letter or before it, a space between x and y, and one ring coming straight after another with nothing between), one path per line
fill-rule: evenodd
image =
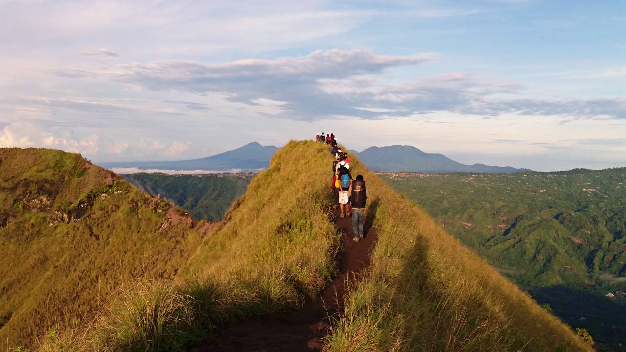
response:
M298 308L334 276L327 148L290 142L250 183L177 281L125 289L51 351L179 351L224 324Z

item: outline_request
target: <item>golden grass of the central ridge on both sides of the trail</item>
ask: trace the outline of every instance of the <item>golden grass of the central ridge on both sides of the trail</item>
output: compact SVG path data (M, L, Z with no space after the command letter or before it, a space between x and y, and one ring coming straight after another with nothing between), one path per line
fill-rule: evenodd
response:
M316 298L336 273L339 245L329 219L330 162L324 145L288 143L203 238L177 282L123 294L84 332L46 348L181 350L237 319ZM368 182L378 241L325 350L591 349L359 160L352 165Z

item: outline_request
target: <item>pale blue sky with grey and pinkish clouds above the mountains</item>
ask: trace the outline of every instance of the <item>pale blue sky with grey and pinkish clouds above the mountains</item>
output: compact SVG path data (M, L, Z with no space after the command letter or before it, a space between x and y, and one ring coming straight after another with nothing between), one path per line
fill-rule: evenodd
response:
M626 166L626 2L0 0L0 147Z

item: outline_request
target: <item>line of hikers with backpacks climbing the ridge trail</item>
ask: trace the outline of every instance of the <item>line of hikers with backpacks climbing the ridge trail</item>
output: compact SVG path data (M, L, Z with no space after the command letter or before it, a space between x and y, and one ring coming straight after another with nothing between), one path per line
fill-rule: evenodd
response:
M350 158L348 153L343 152L337 145L334 133L316 135L317 142L324 142L331 146L331 155L335 160L332 162L332 201L333 208L341 210L339 217L352 217L352 241L359 242L364 238L364 215L367 200L367 188L363 175L357 175L352 179L350 173Z

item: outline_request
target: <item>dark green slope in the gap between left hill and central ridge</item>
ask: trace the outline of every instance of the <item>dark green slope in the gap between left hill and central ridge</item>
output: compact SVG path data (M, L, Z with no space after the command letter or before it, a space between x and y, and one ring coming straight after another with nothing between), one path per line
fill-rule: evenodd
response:
M190 212L195 219L217 221L244 195L253 175L130 173L121 177L155 197L160 194Z

